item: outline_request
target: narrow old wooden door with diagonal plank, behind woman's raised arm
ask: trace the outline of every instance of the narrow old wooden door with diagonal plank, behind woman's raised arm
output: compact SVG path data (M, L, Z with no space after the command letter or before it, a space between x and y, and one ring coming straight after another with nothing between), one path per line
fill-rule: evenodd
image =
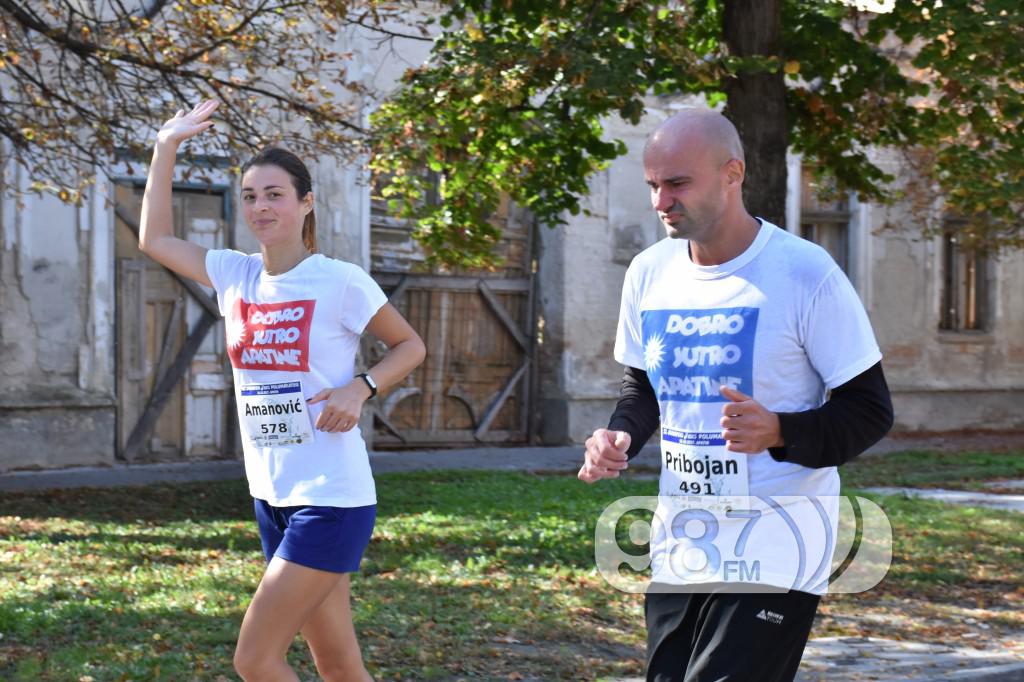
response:
M231 450L230 380L216 304L138 251L141 185L116 186L118 453L174 461ZM176 188L174 232L220 248L223 191Z

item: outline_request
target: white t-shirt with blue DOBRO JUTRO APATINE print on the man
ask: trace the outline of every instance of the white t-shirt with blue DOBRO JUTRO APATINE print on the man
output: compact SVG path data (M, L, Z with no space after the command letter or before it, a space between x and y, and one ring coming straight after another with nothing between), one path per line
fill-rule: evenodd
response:
M725 549L733 559L731 565L710 561L684 583L738 581L823 593L837 530L836 467L725 451L720 420L729 400L719 387L735 388L773 412L801 412L820 407L827 390L881 359L863 305L827 252L765 221L743 253L720 265L696 265L685 240L665 239L627 270L614 356L645 370L657 395L659 506L677 508L688 496L711 504L750 496L759 507L756 523L755 512L730 511L739 515L726 518L723 510L688 528L655 523L655 580L680 582L671 571L656 574L666 566L659 555L671 549L665 543L671 532L688 538L691 547ZM801 496L816 503L793 506ZM738 568L737 549L745 560Z

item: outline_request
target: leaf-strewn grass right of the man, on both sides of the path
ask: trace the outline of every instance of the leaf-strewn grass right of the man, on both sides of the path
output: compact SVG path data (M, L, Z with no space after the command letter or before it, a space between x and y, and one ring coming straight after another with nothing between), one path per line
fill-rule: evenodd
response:
M845 492L871 486L1020 494L1024 452L905 452L841 470ZM1013 649L1024 655L1024 513L863 495L892 522L893 565L863 594L822 602L814 636L870 635Z

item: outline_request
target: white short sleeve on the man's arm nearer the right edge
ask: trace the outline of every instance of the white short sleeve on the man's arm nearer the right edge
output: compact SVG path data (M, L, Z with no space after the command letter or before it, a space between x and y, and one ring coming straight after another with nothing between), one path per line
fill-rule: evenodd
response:
M839 267L828 273L811 299L803 335L807 356L829 390L882 359L867 312Z

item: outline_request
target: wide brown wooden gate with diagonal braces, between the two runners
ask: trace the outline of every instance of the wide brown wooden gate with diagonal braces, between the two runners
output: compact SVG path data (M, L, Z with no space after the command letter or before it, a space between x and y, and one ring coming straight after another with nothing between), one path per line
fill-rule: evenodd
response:
M531 430L534 222L511 204L503 228L504 266L441 273L423 266L410 226L373 205L371 273L427 346L427 357L375 402L374 447L524 443ZM365 347L368 364L383 353Z

